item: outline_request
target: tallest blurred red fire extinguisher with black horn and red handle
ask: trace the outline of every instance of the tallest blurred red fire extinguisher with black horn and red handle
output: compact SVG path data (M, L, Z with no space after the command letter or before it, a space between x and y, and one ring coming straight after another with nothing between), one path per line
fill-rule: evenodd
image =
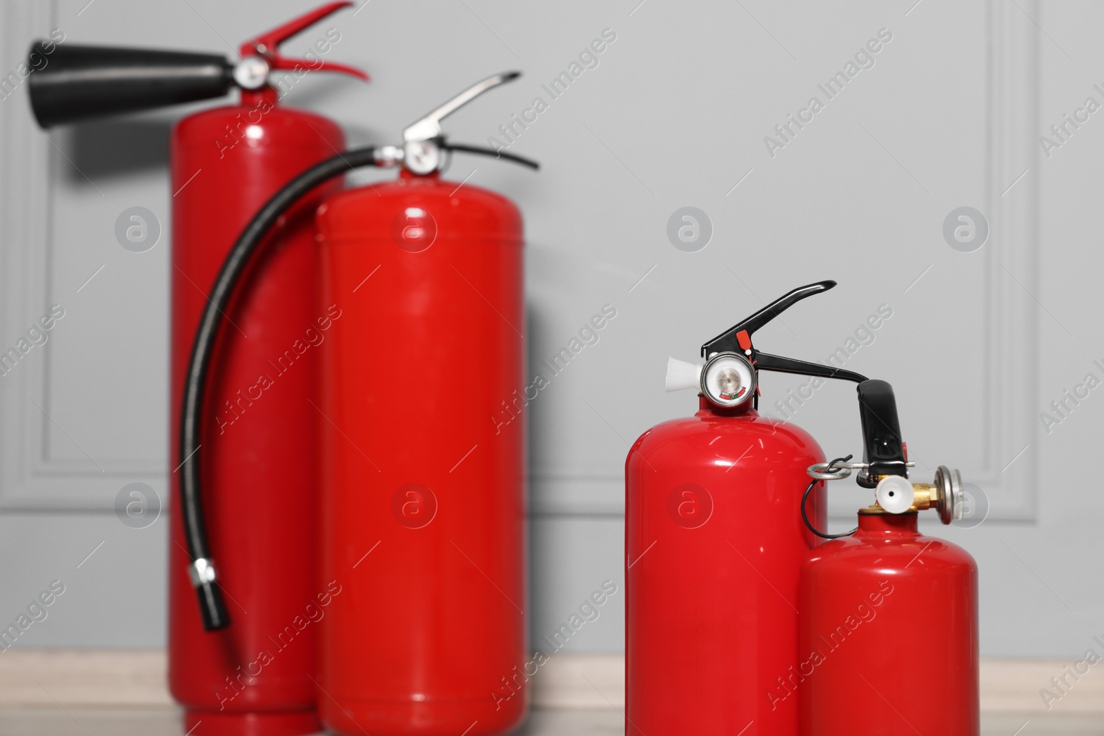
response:
M317 576L317 500L309 492L318 472L319 418L311 406L318 356L299 345L312 344L327 318L318 312L312 217L340 182L325 183L285 214L251 265L251 288L221 306L234 330L217 344L204 404L209 420L192 427L198 441L187 452L177 428L185 382L195 380L185 373L200 313L216 298L216 275L235 237L296 174L344 148L332 120L279 105L285 87L316 71L368 79L322 60L340 40L336 29L319 36L307 58L286 57L278 46L351 4L328 3L247 41L236 62L64 44L50 50L50 65L30 79L32 109L44 128L241 90L236 105L180 120L170 145L170 467L183 498L174 493L170 504L169 684L194 736L319 729L311 681L317 627L299 622L331 594ZM42 44L31 53L43 53ZM233 551L217 576L212 548ZM204 633L227 626L224 595L238 625Z

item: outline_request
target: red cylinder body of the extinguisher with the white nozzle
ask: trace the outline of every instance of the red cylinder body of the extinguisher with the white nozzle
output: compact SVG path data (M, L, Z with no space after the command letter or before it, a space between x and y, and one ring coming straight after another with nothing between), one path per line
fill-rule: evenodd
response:
M797 657L814 543L800 501L824 455L793 424L700 406L646 431L625 463L625 733L796 736L797 703L766 691Z

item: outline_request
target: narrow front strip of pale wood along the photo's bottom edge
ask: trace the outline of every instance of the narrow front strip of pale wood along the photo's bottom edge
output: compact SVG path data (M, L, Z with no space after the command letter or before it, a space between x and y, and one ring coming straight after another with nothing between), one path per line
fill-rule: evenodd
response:
M0 736L182 736L179 723L177 711L160 707L0 710ZM538 710L514 736L613 736L624 733L623 723L622 715L613 710ZM981 734L1104 736L1104 718L992 715L981 719Z

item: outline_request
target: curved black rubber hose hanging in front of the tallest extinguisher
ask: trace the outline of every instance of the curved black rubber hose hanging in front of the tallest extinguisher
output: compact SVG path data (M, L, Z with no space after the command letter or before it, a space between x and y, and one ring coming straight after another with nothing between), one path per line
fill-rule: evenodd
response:
M203 518L203 501L200 493L201 460L198 450L200 449L200 417L206 390L206 376L211 366L215 339L222 323L221 317L229 309L234 289L254 253L280 215L319 184L351 169L375 166L375 148L358 148L327 159L293 179L268 200L246 225L226 256L226 260L219 271L219 277L208 295L208 306L203 310L199 329L195 331L195 341L192 343L192 355L184 378L184 395L180 412L180 457L184 458L181 468L180 494L184 536L188 541L188 553L192 557L192 583L199 595L200 615L203 618L203 628L208 631L230 626L230 616L226 612L222 591L215 585L213 576L202 574L202 568L205 565L197 566L195 564L201 559L208 564L211 562L206 524ZM211 579L205 579L206 577Z

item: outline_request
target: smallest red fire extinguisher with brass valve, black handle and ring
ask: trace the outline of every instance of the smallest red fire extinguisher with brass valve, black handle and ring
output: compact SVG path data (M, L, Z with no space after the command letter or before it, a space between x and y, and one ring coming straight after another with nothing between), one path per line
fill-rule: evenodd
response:
M807 521L831 541L802 565L798 659L771 697L796 695L802 736L977 736L977 564L916 525L927 509L944 524L960 518L962 477L940 466L933 482L910 482L892 387L866 381L858 392L863 461L813 465L809 487L859 469L875 501L846 534Z

